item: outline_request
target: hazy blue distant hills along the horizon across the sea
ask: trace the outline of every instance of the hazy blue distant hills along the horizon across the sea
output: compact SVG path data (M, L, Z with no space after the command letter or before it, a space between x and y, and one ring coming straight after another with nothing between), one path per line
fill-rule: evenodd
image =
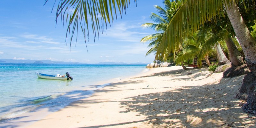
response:
M63 61L52 61L52 60L13 60L13 59L0 59L0 63L37 63L37 64L86 64L80 62L63 62ZM118 62L100 62L97 64L118 64L126 65L127 63ZM129 63L127 65L147 65L147 63Z

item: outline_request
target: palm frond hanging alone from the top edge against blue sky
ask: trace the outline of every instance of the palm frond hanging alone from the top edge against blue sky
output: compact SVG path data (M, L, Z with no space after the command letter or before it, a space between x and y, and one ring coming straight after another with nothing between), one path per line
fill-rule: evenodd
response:
M47 1L45 0L45 3ZM134 4L137 6L137 0L134 0ZM99 33L103 33L104 29L107 29L107 24L111 26L112 21L113 25L114 17L117 20L118 12L121 18L123 12L126 14L128 6L130 6L130 0L59 0L56 12L56 25L59 17L62 24L64 24L64 21L68 22L66 43L69 34L70 47L75 35L77 40L78 29L80 28L84 34L86 44L86 38L89 40L90 28L92 29L95 41L96 35L99 38Z

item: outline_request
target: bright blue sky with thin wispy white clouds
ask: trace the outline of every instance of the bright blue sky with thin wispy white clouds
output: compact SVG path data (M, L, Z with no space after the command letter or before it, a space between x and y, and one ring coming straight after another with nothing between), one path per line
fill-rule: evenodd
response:
M117 16L114 25L98 38L87 41L79 34L77 43L65 42L67 24L55 22L56 8L51 13L53 1L44 0L0 0L0 59L52 60L66 62L99 63L152 63L154 55L145 57L148 43L140 39L155 33L150 28L140 27L152 22L151 12L157 13L154 5L162 0L138 0L137 7L131 1L129 11L122 19ZM59 0L57 0L59 1ZM91 33L92 35L92 33Z

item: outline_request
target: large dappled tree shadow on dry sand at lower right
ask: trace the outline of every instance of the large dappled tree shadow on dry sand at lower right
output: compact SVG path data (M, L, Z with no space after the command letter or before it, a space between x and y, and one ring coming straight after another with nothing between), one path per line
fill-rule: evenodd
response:
M220 86L213 84L129 97L130 101L121 104L126 108L124 113L135 111L146 115L149 119L147 123L155 127L255 127L254 123L245 123L252 121L252 118L239 117L244 114L242 102L237 99L222 100L231 95L235 94L225 94Z

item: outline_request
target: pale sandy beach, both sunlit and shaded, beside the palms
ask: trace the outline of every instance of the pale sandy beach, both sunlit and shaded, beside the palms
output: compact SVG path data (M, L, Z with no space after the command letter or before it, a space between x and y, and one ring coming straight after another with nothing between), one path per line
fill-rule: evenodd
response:
M151 68L96 90L28 128L256 127L233 97L244 76L222 78L208 68Z

